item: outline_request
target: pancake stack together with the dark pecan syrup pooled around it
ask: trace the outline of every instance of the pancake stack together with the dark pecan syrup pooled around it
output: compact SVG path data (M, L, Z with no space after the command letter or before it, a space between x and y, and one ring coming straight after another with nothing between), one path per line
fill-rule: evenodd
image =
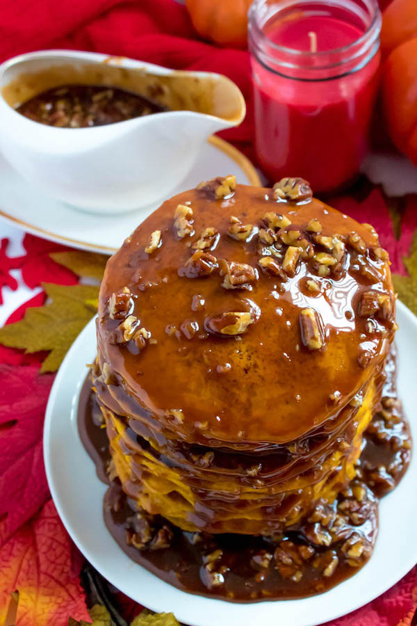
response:
M232 601L357 572L409 463L395 330L377 233L304 180L219 177L164 202L108 261L80 404L97 463L110 449L122 548Z

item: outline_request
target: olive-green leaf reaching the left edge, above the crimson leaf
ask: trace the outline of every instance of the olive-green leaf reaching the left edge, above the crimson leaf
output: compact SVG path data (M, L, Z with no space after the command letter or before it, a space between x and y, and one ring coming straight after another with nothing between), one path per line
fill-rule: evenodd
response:
M72 342L97 310L99 287L43 284L51 302L26 310L24 319L0 328L0 343L26 353L49 351L41 371L56 371Z

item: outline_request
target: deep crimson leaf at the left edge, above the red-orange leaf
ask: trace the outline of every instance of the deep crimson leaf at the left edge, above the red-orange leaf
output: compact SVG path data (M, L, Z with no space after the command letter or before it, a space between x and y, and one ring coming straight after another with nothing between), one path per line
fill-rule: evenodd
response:
M49 498L42 428L53 380L32 365L0 365L0 546Z

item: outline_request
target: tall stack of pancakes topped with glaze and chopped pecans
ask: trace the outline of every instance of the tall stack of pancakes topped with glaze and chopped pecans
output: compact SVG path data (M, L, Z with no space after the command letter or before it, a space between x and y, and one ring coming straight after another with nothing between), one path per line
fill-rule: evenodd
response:
M138 510L274 536L354 477L395 334L375 230L312 198L218 178L108 262L94 380Z

